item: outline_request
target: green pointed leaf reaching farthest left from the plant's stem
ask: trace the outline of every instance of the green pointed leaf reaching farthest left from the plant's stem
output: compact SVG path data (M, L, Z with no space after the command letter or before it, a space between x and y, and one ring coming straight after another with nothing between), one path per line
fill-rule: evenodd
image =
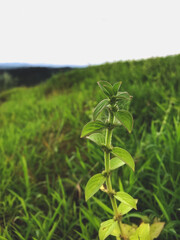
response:
M81 138L105 128L105 124L99 120L88 122L82 130Z

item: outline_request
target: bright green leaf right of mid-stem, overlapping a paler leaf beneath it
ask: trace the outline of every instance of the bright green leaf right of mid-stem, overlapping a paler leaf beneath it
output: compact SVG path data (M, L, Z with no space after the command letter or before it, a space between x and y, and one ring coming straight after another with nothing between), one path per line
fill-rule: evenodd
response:
M128 151L123 148L114 147L112 149L112 154L118 157L120 160L125 162L133 171L135 168L134 160Z

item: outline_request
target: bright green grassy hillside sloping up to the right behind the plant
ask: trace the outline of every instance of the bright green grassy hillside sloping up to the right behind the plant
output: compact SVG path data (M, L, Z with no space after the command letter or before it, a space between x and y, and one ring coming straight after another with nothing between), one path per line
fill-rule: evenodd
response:
M113 139L136 162L135 173L124 167L113 177L116 189L139 199L124 221L159 219L166 222L160 240L180 238L177 55L76 69L0 94L0 239L98 239L111 213L97 198L108 199L97 193L85 203L84 188L102 171L103 155L80 133L103 97L99 80L122 81L133 96L134 130L116 130Z

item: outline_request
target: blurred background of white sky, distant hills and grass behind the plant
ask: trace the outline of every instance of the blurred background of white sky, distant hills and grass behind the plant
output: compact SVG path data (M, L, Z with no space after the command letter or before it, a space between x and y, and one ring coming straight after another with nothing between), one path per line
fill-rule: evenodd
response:
M136 164L112 175L114 189L139 199L123 221L162 221L158 239L180 239L178 7L0 1L0 239L98 239L112 218L103 192L84 200L87 181L103 170L101 149L80 139L104 98L100 80L122 81L133 96L125 108L134 129L113 137Z

